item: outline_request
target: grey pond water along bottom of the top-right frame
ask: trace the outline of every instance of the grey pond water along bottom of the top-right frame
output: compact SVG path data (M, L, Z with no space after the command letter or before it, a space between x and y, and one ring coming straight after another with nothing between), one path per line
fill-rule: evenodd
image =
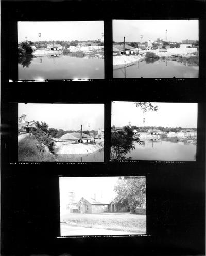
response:
M198 78L199 67L177 61L159 59L155 62L139 61L126 68L113 66L114 78Z

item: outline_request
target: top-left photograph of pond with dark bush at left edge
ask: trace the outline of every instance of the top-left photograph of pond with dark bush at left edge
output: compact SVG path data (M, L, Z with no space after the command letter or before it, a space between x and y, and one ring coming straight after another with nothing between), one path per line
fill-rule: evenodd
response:
M103 21L18 22L19 80L103 79Z

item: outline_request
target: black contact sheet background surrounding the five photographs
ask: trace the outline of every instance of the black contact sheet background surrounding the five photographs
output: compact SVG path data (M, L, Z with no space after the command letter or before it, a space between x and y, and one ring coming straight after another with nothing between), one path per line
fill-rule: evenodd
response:
M205 1L2 1L1 4L3 254L204 254ZM199 19L198 79L112 79L112 19L189 18ZM9 79L18 78L16 22L38 20L104 20L105 79L9 83ZM197 102L197 162L110 163L111 100ZM105 163L16 163L18 102L105 103ZM149 236L57 238L60 175L146 175Z

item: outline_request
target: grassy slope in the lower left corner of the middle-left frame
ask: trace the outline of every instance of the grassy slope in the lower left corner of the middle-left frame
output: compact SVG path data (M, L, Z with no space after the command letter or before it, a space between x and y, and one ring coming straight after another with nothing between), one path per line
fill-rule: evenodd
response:
M38 147L33 136L26 136L18 143L18 160L20 162L53 162L54 156Z

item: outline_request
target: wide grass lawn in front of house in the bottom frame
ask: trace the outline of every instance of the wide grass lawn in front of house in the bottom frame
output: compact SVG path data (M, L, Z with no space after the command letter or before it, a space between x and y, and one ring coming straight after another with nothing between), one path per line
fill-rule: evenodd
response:
M61 216L61 223L77 227L97 228L146 234L146 215L131 213L80 214Z

